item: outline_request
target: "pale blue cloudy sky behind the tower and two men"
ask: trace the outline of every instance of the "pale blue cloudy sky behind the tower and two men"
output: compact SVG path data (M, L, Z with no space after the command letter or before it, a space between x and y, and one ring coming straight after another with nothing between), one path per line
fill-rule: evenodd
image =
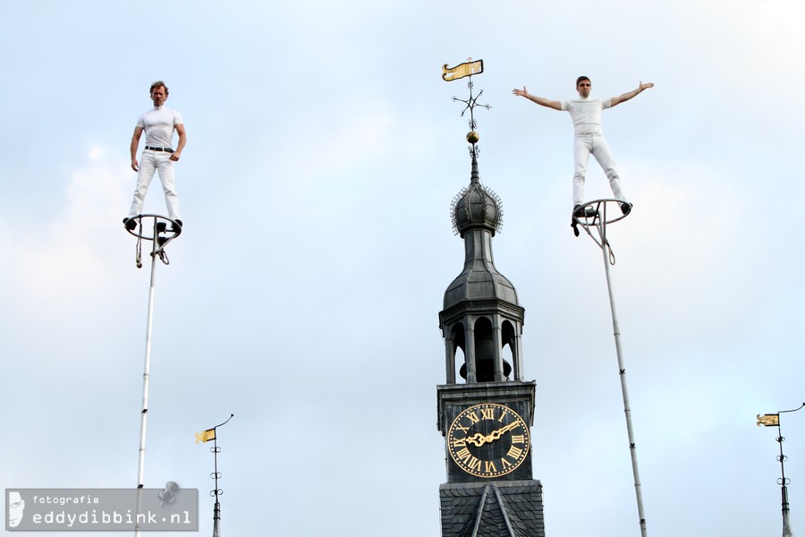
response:
M225 535L438 535L437 314L470 177L466 81L440 74L472 57L547 534L639 534L601 251L568 222L572 124L512 95L572 98L580 74L602 98L656 84L604 113L635 206L610 241L648 533L781 532L755 414L805 401L801 2L0 3L0 488L137 484L148 264L121 218L164 79L186 231L157 264L146 486L199 489L210 534L193 433L234 413ZM783 425L803 532L805 411Z

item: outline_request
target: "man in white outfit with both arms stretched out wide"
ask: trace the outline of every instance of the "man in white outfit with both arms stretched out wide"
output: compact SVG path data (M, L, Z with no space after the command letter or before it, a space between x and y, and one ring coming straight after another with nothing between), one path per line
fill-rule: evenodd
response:
M576 90L579 92L579 99L572 101L556 101L543 97L530 95L525 86L522 90L513 90L514 95L518 95L541 105L543 107L554 108L555 110L570 112L575 131L575 141L573 143L573 160L575 161L575 171L573 173L573 214L577 214L584 202L584 177L587 173L587 162L592 153L598 164L604 170L609 179L609 185L615 200L621 201L623 214L628 214L631 204L626 201L621 189L621 178L615 167L612 152L604 139L604 132L601 129L601 111L605 108L614 107L635 97L643 90L653 88L651 82L640 82L637 90L631 90L623 95L605 100L589 98L592 90L592 83L586 76L580 76L576 80ZM578 234L578 233L577 233Z

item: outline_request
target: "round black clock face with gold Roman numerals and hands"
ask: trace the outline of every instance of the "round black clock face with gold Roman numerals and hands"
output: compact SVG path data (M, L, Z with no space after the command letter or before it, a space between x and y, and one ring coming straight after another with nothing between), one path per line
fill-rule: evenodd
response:
M447 431L447 451L456 465L478 477L513 472L529 454L529 428L520 414L482 403L456 416Z

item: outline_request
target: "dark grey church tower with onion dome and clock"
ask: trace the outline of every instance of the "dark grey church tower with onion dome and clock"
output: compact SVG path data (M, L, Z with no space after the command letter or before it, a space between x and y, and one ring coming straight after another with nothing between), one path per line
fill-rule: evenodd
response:
M464 268L439 312L446 365L446 383L436 387L447 463L439 487L442 537L544 537L542 484L531 473L536 382L522 379L525 310L495 267L492 237L502 207L480 183L474 147L470 154L470 185L452 211Z

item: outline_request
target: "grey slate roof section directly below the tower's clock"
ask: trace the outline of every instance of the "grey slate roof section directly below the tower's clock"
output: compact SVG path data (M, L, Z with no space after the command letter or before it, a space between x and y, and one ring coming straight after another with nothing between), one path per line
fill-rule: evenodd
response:
M545 537L542 483L445 483L442 537Z

